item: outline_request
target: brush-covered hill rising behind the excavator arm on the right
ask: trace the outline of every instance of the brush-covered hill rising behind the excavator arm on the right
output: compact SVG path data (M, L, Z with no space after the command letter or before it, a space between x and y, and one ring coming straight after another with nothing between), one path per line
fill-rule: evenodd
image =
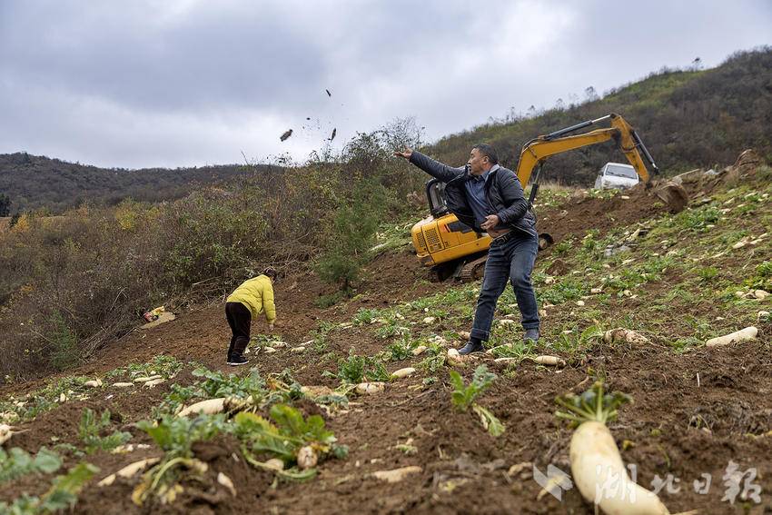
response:
M641 135L663 173L698 166L731 164L744 148L772 156L772 48L730 56L709 70L662 70L582 104L544 113L510 114L461 134L452 134L427 152L445 163L465 163L472 144L493 144L505 166L517 166L520 148L539 134L618 113ZM594 98L594 100L593 100ZM608 125L607 125L608 126ZM625 163L615 144L599 144L549 159L545 178L589 186L601 165Z

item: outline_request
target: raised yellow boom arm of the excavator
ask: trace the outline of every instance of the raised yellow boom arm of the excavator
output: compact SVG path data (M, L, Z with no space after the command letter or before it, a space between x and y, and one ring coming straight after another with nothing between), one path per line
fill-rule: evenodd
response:
M589 127L599 122L610 120L611 126L596 129L584 134L566 135L585 127ZM520 152L520 162L518 163L518 179L520 183L525 187L529 181L530 176L534 169L537 170L536 178L531 187L529 203L533 203L536 198L536 193L539 191L539 173L544 161L554 154L561 154L588 146L591 144L600 144L614 140L619 146L619 150L625 154L630 164L635 168L636 173L640 177L643 183L650 183L651 176L648 173L646 165L643 163L644 158L651 165L652 173L659 173L657 164L654 163L651 154L648 154L648 150L640 137L624 118L619 114L608 114L595 120L588 120L581 124L571 125L565 129L560 129L554 133L545 134L530 140L527 144L523 145L523 149Z

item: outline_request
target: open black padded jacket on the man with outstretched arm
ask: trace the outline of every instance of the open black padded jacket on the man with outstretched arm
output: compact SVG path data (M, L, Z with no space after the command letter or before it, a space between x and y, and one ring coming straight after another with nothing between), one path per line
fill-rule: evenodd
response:
M468 167L452 168L416 151L411 155L411 163L445 183L445 200L450 213L476 232L485 232L476 223L467 201L464 183L471 178ZM538 235L536 218L528 208L520 180L514 172L501 166L491 171L485 183L485 199L488 201L489 214L499 216L497 228L507 227L534 237Z

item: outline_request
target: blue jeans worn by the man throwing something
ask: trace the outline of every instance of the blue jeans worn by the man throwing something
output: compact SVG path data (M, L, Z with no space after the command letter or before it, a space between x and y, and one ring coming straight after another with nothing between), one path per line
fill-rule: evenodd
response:
M496 302L499 302L501 293L507 287L507 280L512 282L518 300L523 329L539 329L539 308L530 283L530 272L539 251L539 241L536 235L517 230L510 234L507 235L509 239L490 243L485 277L471 329L472 338L487 341L490 337L493 312L496 311Z

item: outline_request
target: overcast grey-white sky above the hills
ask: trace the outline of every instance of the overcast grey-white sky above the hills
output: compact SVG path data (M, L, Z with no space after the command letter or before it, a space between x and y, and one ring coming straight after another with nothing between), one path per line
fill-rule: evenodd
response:
M0 0L0 153L302 161L333 128L436 140L769 44L768 0Z

